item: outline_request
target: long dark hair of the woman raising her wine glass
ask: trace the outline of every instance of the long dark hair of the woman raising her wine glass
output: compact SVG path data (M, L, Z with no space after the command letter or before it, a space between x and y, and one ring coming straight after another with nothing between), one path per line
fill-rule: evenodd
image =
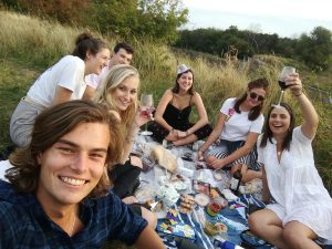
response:
M284 107L287 110L287 112L289 113L289 115L290 115L289 128L288 128L287 135L286 135L286 137L284 137L284 139L282 142L282 145L281 145L282 146L282 151L283 149L289 151L290 143L292 141L293 128L295 126L295 116L294 116L294 113L293 113L292 108L287 103L282 102L282 103L280 103L280 105L282 107ZM276 107L271 106L270 110L269 110L269 112L268 112L268 116L266 118L264 126L263 126L263 134L262 134L261 143L260 143L260 147L266 147L268 141L270 143L272 143L273 134L272 134L272 131L271 131L270 125L269 125L269 120L270 120L271 112L272 112L273 108L276 108Z

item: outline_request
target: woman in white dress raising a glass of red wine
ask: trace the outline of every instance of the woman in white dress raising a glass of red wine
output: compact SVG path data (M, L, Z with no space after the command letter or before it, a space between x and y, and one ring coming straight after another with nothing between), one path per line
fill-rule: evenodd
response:
M263 164L262 200L276 200L249 217L250 229L278 248L320 248L313 239L332 240L332 199L314 166L311 142L318 114L302 92L297 73L287 79L303 123L294 128L289 105L271 107L258 139L258 160Z

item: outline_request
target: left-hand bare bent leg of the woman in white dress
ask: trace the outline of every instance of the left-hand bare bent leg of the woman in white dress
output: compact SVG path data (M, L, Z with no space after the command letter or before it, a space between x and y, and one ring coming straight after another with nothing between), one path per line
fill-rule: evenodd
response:
M272 243L280 249L290 248L283 240L282 221L274 211L267 208L255 211L249 216L248 225L255 235L269 243Z

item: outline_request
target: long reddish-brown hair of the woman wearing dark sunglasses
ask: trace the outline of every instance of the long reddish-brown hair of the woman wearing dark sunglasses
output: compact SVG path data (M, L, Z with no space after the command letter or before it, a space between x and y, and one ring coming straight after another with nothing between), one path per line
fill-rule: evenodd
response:
M263 89L267 92L268 87L269 87L269 82L264 77L257 79L248 83L249 91L252 89ZM247 91L239 98L236 100L234 108L237 113L241 113L240 105L246 101L246 98L247 98ZM263 101L261 101L259 105L255 106L249 111L248 120L255 121L260 115L262 107L263 107Z

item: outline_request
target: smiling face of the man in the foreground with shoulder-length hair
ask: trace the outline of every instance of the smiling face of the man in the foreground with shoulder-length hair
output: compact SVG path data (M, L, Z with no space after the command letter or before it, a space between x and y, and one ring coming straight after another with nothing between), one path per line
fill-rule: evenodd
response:
M107 134L106 124L82 123L38 156L37 197L44 208L77 204L93 190L104 172Z

